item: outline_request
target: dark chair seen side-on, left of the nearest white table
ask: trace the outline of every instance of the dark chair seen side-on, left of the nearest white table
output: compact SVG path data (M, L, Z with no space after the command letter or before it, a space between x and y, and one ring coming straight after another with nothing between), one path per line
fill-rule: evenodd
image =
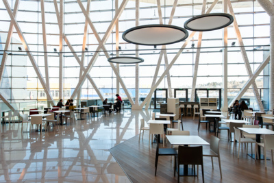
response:
M159 142L158 139L156 138L156 142L157 142L157 149L156 149L156 157L155 157L155 176L157 173L157 166L158 166L158 158L159 156L174 156L174 176L175 176L175 169L176 169L176 155L177 155L177 151L175 148L159 148Z

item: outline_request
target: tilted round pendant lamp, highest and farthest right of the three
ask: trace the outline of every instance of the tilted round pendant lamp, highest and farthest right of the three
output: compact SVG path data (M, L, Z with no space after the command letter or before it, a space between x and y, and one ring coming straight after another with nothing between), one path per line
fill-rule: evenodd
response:
M222 29L233 21L233 16L226 13L201 14L186 21L184 27L188 30L204 32Z

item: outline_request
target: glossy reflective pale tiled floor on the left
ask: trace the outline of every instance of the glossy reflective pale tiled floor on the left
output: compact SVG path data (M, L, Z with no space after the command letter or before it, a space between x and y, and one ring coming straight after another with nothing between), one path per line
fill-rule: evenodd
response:
M145 112L77 120L55 132L1 125L0 182L130 182L108 149L139 133Z

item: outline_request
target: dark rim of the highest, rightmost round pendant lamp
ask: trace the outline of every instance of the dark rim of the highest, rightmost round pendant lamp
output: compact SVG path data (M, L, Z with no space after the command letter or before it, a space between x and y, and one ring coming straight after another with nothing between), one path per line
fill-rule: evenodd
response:
M213 29L192 29L190 27L188 27L188 23L190 23L191 21L195 21L196 19L201 19L207 16L225 16L229 19L229 22L226 23L225 25L222 25L220 27L215 27ZM234 22L234 17L231 14L227 14L227 13L210 13L210 14L201 14L198 16L194 16L191 19L188 19L185 23L184 23L184 28L191 30L191 31L197 31L197 32L206 32L206 31L213 31L213 30L218 30L218 29L222 29L224 27L227 27L228 25L232 24Z

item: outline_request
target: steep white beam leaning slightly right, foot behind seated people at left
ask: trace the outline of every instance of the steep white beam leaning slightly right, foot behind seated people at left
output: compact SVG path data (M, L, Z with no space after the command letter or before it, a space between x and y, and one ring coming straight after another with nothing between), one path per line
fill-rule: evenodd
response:
M88 16L90 16L90 1L88 0L88 3L86 5L86 13ZM82 56L81 56L81 64L84 65L84 59L85 59L85 51L86 51L86 36L88 33L88 20L86 19L85 21L85 27L84 27L84 37L83 37L83 45L82 45ZM78 56L77 56L78 57ZM80 67L80 72L79 72L79 78L82 76L82 67ZM82 93L82 87L79 89L77 93L77 106L79 106L79 101L81 99L81 93Z

